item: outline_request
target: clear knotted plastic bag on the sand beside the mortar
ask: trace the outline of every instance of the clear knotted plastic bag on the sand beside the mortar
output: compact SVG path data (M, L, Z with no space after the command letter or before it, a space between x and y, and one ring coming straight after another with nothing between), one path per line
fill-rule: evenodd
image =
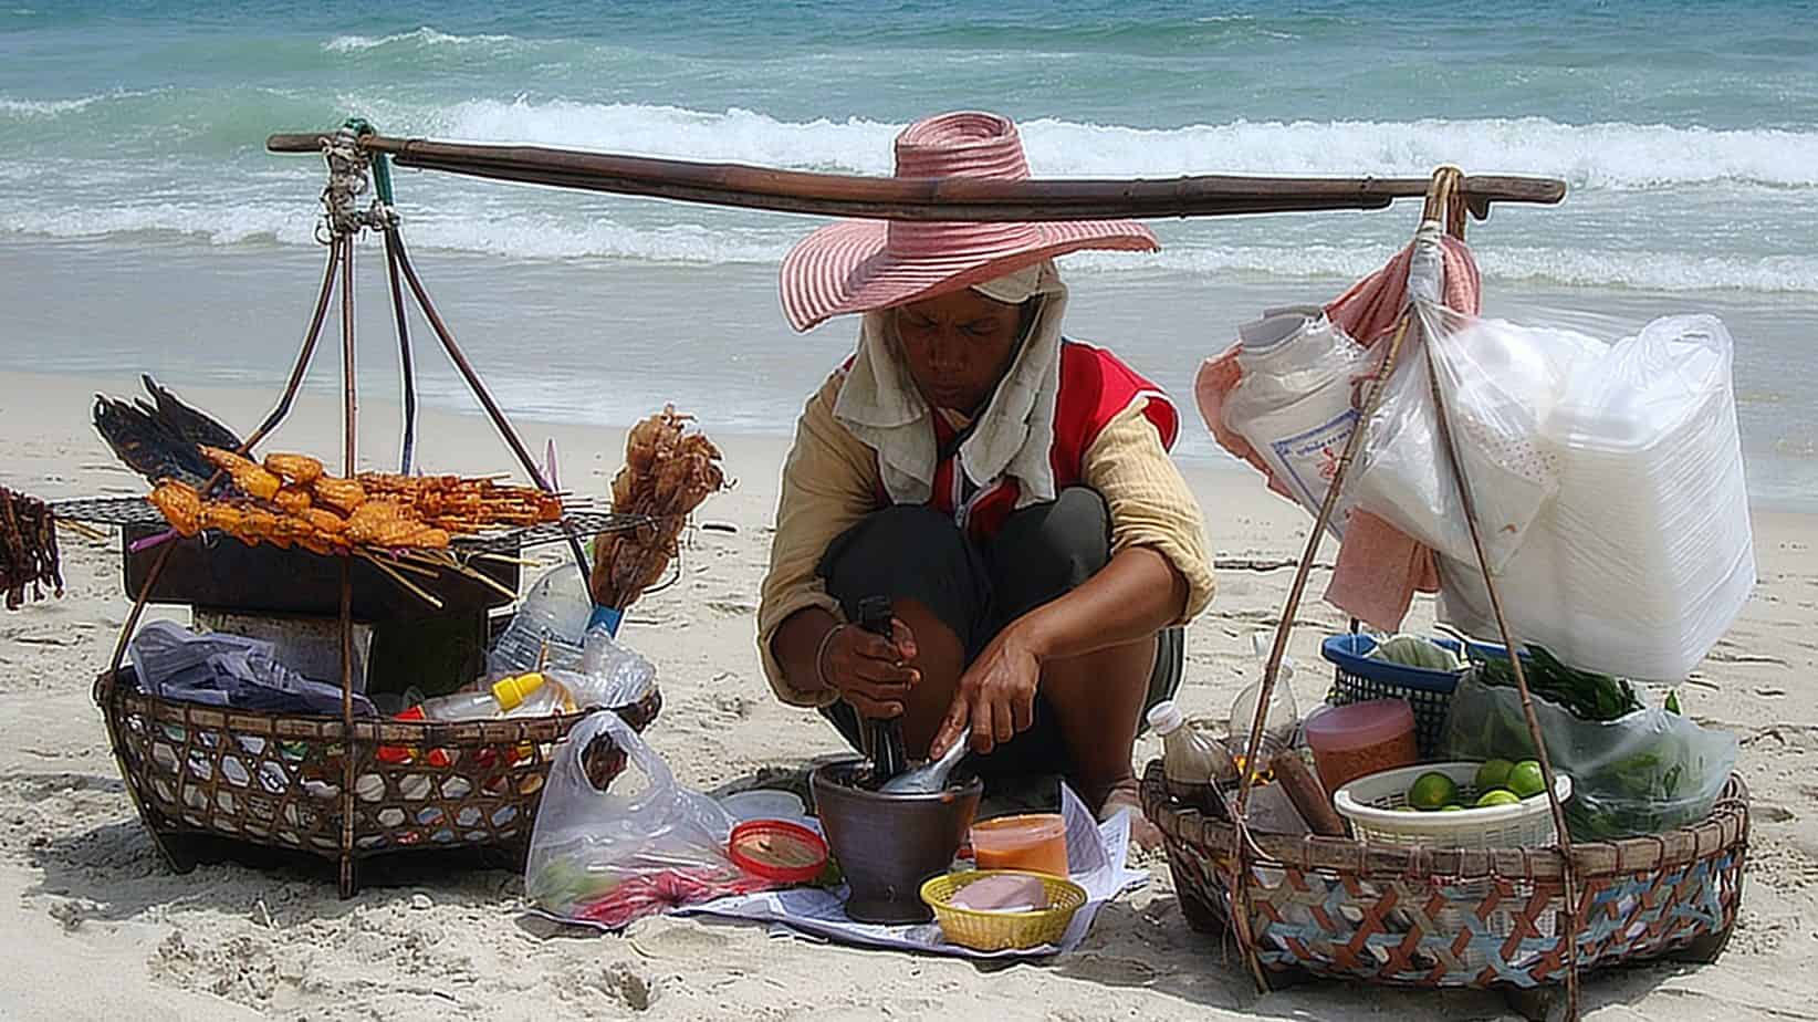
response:
M613 742L629 769L600 791L584 764L594 738ZM624 782L642 780L642 787ZM676 784L669 766L616 713L598 711L569 731L536 809L524 893L540 909L616 929L656 915L769 887L725 855L733 817Z

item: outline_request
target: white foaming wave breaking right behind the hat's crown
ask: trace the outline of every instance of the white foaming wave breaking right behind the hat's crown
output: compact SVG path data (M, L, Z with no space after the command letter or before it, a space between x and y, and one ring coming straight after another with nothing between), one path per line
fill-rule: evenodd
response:
M851 173L889 173L891 138L902 129L865 118L780 120L747 109L709 113L525 96L411 113L424 127L467 142ZM1434 165L1458 164L1473 173L1560 176L1580 189L1818 187L1818 131L1578 125L1547 118L1234 120L1162 129L1036 118L1020 131L1029 164L1042 176L1425 176Z

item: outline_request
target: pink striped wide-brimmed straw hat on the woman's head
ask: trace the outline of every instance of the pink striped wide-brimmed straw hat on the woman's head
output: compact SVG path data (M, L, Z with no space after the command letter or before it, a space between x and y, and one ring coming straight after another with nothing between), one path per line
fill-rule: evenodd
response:
M1029 176L1029 160L1007 116L944 113L896 136L896 176L1014 182ZM1078 249L1158 247L1154 235L1134 220L842 220L789 249L782 300L789 324L804 331L831 316L958 291Z

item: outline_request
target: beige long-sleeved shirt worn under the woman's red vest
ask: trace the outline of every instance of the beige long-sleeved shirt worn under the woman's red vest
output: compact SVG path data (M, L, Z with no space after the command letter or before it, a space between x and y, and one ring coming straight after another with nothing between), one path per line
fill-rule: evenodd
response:
M822 607L840 615L816 567L827 546L878 507L876 453L833 416L844 376L834 373L809 398L796 422L794 446L784 462L771 569L758 602L758 649L776 696L793 706L824 706L834 695L789 684L771 651L771 638L791 615ZM1111 511L1111 555L1145 546L1187 580L1184 624L1213 600L1213 566L1205 555L1205 522L1142 398L1113 418L1085 451L1082 480Z

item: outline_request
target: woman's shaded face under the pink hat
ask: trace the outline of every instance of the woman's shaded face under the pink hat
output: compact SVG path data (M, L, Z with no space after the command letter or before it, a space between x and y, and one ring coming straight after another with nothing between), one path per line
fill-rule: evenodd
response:
M1022 306L971 287L898 306L891 315L916 389L931 406L964 413L991 398L1024 329Z

